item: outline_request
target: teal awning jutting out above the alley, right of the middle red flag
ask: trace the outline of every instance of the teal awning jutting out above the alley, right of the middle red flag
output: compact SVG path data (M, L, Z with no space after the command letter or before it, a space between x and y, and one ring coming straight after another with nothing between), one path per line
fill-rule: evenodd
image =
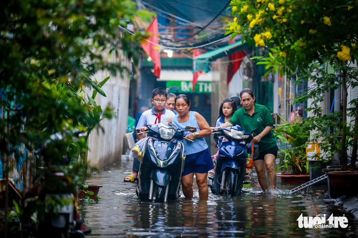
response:
M249 47L248 44L242 44L241 41L223 46L219 49L215 49L209 52L206 52L202 55L199 55L194 58L194 63L196 71L205 71L207 72L209 70L208 64L211 61L215 61L216 59L229 56L232 53L235 53L239 50L245 49Z

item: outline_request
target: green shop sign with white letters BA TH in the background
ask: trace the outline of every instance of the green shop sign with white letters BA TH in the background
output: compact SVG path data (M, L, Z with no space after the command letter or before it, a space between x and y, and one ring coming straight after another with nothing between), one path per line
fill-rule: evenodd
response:
M167 81L167 88L170 92L193 92L192 81ZM197 82L195 85L197 93L211 93L211 82Z

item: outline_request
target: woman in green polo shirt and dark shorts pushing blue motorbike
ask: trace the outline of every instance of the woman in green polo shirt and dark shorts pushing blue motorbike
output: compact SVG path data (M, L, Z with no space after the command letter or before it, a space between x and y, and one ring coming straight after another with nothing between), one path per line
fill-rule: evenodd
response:
M254 92L245 88L240 92L242 108L235 111L230 120L220 127L239 125L242 129L254 132L254 142L258 144L258 157L254 159L258 182L263 191L268 189L265 169L271 189L276 188L275 160L277 147L275 136L272 133L274 122L269 109L255 103ZM217 129L217 128L214 128Z

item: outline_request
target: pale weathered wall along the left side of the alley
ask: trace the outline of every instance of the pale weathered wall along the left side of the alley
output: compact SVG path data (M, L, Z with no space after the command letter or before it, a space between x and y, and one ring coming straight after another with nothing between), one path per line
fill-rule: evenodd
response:
M130 67L130 61L122 54L119 54L118 57L115 55L103 57L105 60L120 62L122 65ZM113 76L107 70L101 70L95 75L95 78L101 82L108 76L110 76L110 79L102 87L107 97L97 94L96 103L101 105L102 109L106 106L112 108L116 112L116 117L111 120L103 119L100 122L103 130L97 126L97 129L92 130L89 135L87 162L89 166L97 169L102 169L120 160L128 122L130 75L127 72L117 72ZM92 95L92 92L90 95Z

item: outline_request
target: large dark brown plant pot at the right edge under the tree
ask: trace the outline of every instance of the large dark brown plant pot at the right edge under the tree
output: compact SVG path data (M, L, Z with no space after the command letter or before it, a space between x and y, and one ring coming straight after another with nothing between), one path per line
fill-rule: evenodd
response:
M343 195L358 195L358 173L357 172L328 172L328 191L331 198Z

